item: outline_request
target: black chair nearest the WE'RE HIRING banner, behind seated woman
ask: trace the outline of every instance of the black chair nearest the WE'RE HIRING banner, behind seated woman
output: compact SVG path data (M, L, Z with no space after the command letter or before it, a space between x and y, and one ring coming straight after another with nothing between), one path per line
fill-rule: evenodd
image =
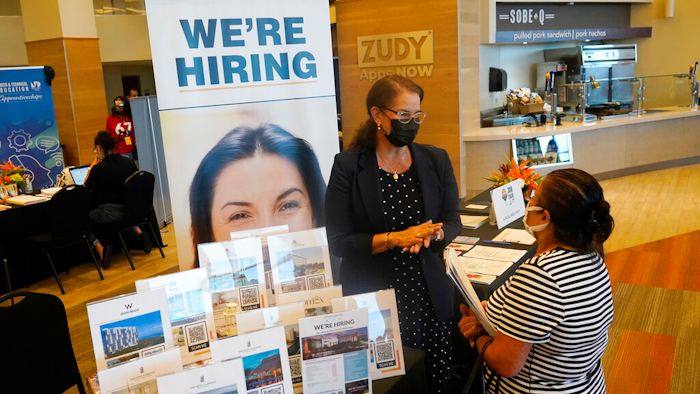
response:
M156 234L152 224L155 215L153 211L153 190L155 182L155 176L146 171L135 172L124 182L124 221L119 223L117 227L115 227L115 230L117 230L117 235L119 235L119 240L122 243L122 250L126 258L129 259L132 270L136 268L134 267L133 261L131 261L129 248L126 246L122 232L130 230L133 227L148 227L153 236L153 242L156 243L158 250L160 250L160 255L165 258L163 247L159 242L160 237Z

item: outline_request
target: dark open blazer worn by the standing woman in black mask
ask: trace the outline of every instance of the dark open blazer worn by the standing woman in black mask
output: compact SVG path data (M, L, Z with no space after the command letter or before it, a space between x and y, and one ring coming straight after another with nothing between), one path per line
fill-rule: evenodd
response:
M452 317L454 285L445 274L442 251L462 230L459 191L445 150L415 143L408 147L423 195L421 222L442 222L445 232L444 240L419 253L435 314L445 321ZM389 288L393 259L389 253L372 255L374 235L389 231L381 197L374 149L355 147L336 155L326 191L326 230L331 253L342 258L344 295Z

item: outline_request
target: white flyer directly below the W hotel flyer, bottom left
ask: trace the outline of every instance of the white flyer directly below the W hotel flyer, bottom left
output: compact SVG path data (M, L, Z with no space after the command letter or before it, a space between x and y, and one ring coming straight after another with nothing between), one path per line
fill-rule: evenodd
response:
M171 349L152 357L97 371L102 394L158 393L156 378L182 371L180 351ZM164 391L163 393L167 393Z

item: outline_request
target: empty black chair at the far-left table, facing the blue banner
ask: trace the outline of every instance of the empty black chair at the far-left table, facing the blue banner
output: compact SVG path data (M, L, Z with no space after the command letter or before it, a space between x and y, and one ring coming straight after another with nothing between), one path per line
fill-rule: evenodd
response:
M97 273L100 274L100 279L104 280L102 270L92 250L92 245L88 241L90 191L83 186L67 186L54 194L49 204L51 205L51 232L34 235L27 238L27 241L38 244L46 253L61 293L66 294L61 280L58 278L58 273L56 273L56 266L51 259L51 252L73 244L81 242L85 244L90 252L90 256L92 256L93 263L95 263ZM68 264L66 264L67 273Z

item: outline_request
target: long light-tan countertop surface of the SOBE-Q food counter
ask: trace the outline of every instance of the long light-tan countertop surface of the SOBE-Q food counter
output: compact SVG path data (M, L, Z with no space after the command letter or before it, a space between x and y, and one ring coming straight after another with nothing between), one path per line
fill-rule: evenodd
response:
M544 126L528 127L525 125L482 127L462 135L462 141L498 141L511 140L513 138L534 138L546 135L579 133L611 127L634 125L639 123L658 122L671 119L682 119L692 116L700 116L700 111L689 108L665 107L649 109L644 115L633 115L627 117L616 117L609 120L598 120L595 122L568 122L562 120L561 126L554 123L547 123Z

